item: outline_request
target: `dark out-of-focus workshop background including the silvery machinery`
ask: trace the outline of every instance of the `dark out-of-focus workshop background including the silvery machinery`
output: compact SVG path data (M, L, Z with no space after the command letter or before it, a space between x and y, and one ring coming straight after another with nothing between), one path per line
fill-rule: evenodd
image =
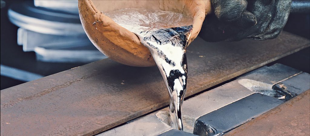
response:
M291 13L284 31L309 39L309 12ZM78 0L1 0L0 41L1 90L106 58L82 28ZM309 73L310 48L274 63Z

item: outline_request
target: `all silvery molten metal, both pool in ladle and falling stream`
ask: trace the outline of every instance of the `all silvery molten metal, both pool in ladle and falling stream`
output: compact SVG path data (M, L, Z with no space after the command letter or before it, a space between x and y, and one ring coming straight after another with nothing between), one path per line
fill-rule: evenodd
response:
M150 50L169 92L171 125L183 130L181 113L187 85L186 47L193 19L175 12L137 8L110 11L105 15L137 34Z

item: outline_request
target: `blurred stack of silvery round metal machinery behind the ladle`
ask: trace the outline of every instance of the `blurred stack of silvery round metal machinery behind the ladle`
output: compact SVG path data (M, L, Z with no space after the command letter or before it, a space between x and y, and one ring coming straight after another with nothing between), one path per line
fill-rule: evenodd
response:
M8 17L20 27L17 43L38 61L89 63L106 58L87 38L77 0L34 0L11 5Z

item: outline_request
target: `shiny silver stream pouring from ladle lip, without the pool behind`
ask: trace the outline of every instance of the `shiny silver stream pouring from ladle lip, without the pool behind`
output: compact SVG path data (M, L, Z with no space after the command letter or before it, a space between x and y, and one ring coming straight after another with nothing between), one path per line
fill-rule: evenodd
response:
M183 130L182 103L187 85L186 47L193 25L178 28L153 29L139 34L148 47L162 74L169 92L171 125Z

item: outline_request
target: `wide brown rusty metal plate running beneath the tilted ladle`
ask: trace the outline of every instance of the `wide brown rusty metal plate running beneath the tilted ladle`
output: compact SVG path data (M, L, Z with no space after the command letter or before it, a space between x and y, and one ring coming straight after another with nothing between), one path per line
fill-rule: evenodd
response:
M188 47L188 90L193 95L309 46L282 32L267 41ZM157 67L110 59L1 90L1 135L92 135L168 105Z

